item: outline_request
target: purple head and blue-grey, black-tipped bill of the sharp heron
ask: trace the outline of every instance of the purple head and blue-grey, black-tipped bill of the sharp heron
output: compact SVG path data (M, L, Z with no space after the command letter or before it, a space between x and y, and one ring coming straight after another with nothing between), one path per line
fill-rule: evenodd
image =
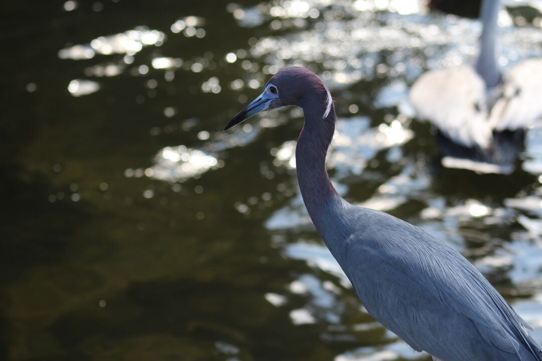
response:
M263 93L241 110L224 130L261 111L289 105L321 111L325 118L330 113L332 100L324 82L312 71L302 67L286 68L273 75Z

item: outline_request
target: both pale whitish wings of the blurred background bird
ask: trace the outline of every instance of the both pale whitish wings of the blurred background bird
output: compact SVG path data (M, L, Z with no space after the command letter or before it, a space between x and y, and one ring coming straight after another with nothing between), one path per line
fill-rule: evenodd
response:
M528 128L542 118L541 84L542 59L515 65L503 75L502 84L489 90L473 68L462 65L420 76L410 101L418 117L453 141L488 148L494 130Z

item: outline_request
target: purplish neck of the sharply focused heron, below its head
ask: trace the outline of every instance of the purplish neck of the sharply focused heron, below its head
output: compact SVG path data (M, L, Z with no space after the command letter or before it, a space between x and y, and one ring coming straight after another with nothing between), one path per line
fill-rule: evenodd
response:
M295 149L299 188L308 214L321 237L335 257L339 234L343 233L344 201L335 191L326 170L326 154L335 129L335 109L332 106L325 119L323 114L304 107L305 125Z

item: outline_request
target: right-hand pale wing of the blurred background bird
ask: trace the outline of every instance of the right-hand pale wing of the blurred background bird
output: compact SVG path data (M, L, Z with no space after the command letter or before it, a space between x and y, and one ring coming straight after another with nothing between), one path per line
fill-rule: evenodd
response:
M527 128L542 118L542 59L515 65L503 76L502 95L491 109L495 130Z

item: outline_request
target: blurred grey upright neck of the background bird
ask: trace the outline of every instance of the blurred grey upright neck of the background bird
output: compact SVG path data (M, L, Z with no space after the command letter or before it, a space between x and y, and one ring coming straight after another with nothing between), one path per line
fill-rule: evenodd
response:
M479 40L480 54L476 61L476 72L480 74L488 88L496 86L501 76L496 61L497 19L500 9L500 0L482 1L480 12L483 29Z

